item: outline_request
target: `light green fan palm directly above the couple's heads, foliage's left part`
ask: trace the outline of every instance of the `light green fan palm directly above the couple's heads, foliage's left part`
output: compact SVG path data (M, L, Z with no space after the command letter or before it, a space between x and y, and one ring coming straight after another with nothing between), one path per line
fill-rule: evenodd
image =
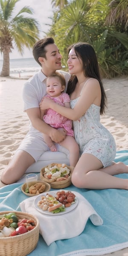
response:
M47 33L53 36L63 55L62 65L66 66L67 47L78 41L93 41L93 28L88 26L90 0L73 0L56 16L54 12L52 26Z

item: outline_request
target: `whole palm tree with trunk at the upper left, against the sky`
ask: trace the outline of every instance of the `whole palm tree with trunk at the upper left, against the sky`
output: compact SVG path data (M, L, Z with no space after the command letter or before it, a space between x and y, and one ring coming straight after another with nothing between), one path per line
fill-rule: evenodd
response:
M29 6L23 7L14 15L15 5L19 0L0 0L0 52L3 53L3 67L0 76L9 76L9 53L14 49L23 54L23 46L31 48L38 39L39 24L32 17Z

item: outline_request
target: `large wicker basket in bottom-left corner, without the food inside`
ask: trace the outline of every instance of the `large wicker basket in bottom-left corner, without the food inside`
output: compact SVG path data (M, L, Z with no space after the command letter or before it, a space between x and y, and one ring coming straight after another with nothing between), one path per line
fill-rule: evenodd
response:
M11 211L0 212L0 215L7 214ZM33 230L22 235L0 238L0 256L26 256L31 253L39 239L39 221L35 216L26 212L16 212L18 218L33 219L36 226Z

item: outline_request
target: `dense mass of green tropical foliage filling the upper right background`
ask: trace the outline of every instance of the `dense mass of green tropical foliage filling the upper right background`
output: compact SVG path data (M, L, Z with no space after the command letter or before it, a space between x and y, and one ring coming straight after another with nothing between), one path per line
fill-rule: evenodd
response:
M65 70L67 47L86 41L95 49L104 77L128 75L128 0L67 2L65 9L54 11L47 33L61 49Z

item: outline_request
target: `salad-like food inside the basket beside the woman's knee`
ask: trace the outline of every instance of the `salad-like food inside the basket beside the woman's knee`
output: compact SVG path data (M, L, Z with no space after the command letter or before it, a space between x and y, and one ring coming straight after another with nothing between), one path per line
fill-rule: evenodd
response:
M70 169L63 163L49 164L45 167L44 178L53 179L52 181L62 181L67 180L70 175Z

